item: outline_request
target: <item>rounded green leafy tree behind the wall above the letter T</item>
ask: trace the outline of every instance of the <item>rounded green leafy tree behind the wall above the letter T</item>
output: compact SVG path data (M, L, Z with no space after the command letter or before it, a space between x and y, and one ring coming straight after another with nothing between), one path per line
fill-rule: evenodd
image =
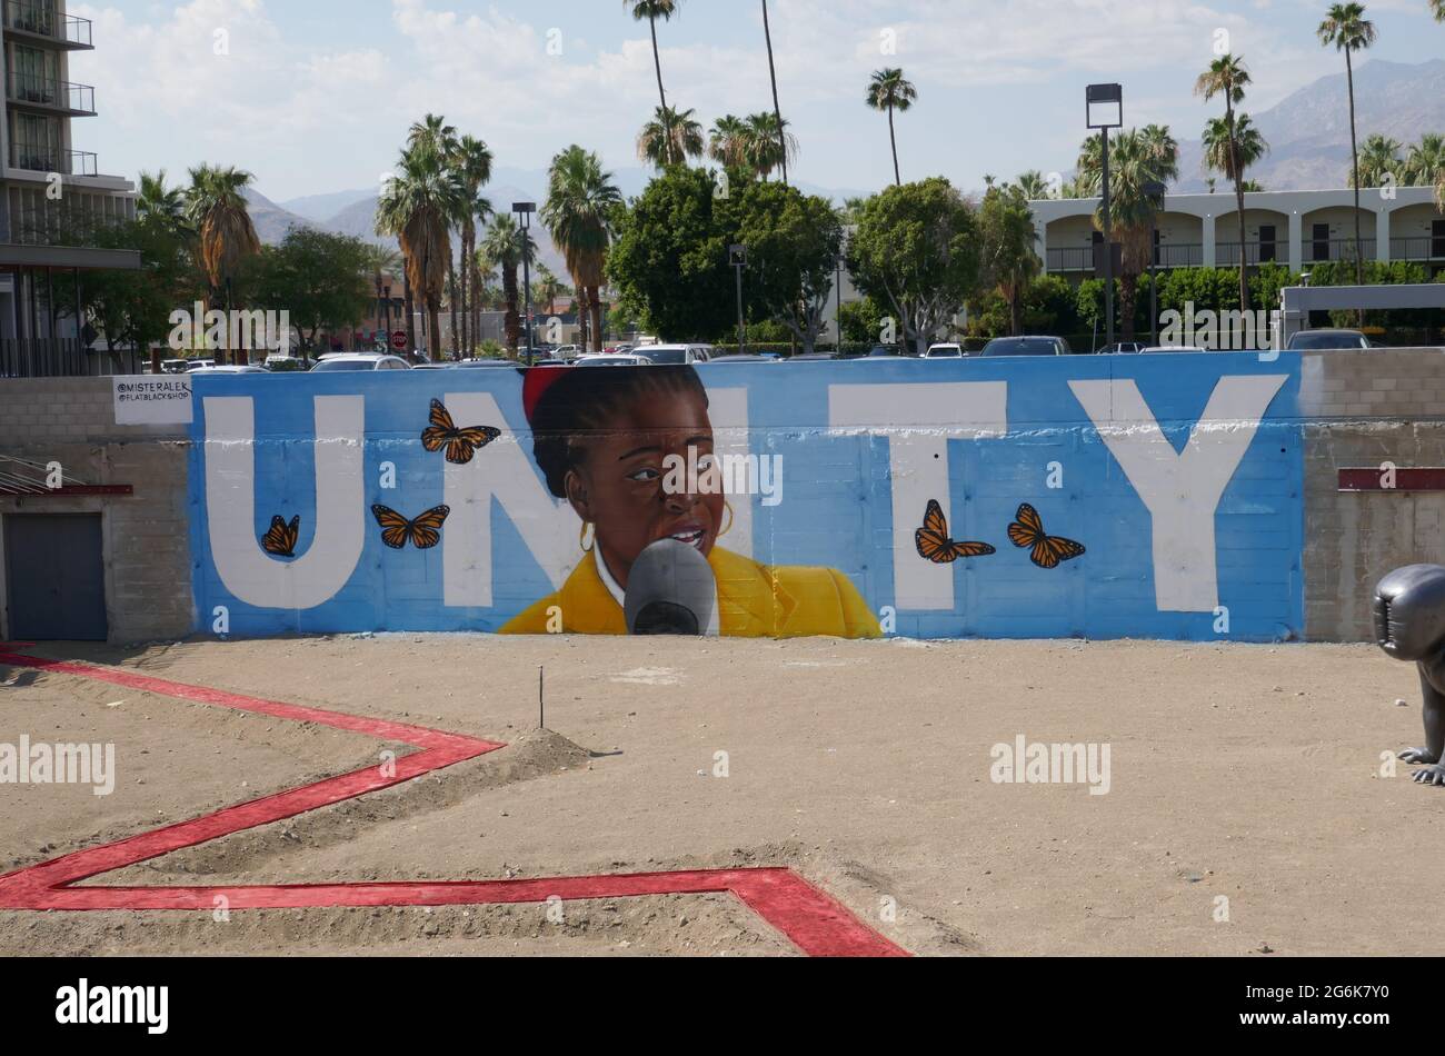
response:
M857 287L889 305L922 354L978 283L978 221L942 178L870 198L848 253Z

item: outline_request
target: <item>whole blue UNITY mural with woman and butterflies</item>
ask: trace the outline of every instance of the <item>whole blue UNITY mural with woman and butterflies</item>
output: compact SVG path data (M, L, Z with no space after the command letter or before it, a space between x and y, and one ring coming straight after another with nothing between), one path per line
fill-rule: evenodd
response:
M198 378L198 623L1298 637L1298 364Z

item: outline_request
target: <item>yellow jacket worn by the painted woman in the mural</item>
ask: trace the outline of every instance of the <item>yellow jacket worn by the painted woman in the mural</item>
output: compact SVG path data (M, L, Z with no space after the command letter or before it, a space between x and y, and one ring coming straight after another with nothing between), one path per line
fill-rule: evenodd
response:
M718 630L738 639L877 639L879 620L848 576L831 568L769 568L714 548ZM503 634L546 634L551 610L565 634L627 634L627 618L588 556L562 589L512 620Z

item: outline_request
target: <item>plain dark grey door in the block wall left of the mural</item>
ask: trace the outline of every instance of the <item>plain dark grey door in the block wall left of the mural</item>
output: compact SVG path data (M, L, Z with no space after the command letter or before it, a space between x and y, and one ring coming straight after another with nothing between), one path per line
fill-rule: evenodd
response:
M4 555L12 639L107 639L98 513L7 514Z

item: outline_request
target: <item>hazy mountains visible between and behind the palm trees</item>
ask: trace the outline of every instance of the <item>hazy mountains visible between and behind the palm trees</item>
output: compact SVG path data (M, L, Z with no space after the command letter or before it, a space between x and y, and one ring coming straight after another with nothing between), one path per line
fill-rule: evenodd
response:
M1247 107L1246 107L1247 108ZM1420 64L1374 59L1355 71L1355 108L1363 143L1371 133L1392 136L1406 146L1428 131L1445 131L1445 59ZM1286 97L1277 105L1253 113L1254 124L1270 144L1269 155L1250 178L1269 191L1308 191L1347 186L1350 173L1350 110L1344 72L1324 77ZM1201 118L1202 121L1202 118ZM1207 175L1204 147L1198 140L1181 140L1179 192L1202 192ZM1042 166L1048 169L1049 166ZM613 179L627 198L642 194L652 169L639 166L616 169ZM497 166L484 194L499 211L513 202L540 202L546 191L545 169ZM837 204L866 191L821 188L799 182L808 194L822 195ZM1218 181L1218 189L1227 189ZM357 188L308 195L273 202L257 191L247 191L251 220L262 241L280 241L293 225L348 234L371 243L387 241L376 234L374 217L379 189ZM533 228L538 260L558 276L566 269L546 231Z

